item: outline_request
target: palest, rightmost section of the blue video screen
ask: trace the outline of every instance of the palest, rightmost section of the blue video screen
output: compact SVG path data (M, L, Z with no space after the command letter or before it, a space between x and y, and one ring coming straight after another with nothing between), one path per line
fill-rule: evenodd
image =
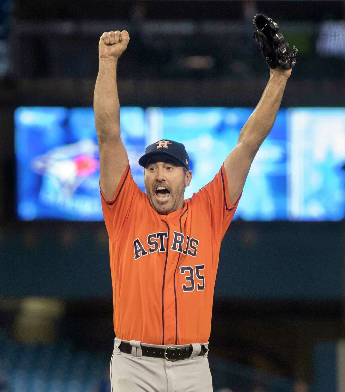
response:
M345 109L294 108L289 123L288 216L345 217Z

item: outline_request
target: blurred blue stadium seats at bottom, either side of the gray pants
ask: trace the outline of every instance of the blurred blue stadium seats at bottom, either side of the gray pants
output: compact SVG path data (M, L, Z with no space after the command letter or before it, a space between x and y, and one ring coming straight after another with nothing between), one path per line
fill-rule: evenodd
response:
M14 340L0 329L0 392L110 392L109 355L78 351L71 342ZM309 392L303 379L292 382L210 359L215 392ZM267 385L267 387L266 387Z

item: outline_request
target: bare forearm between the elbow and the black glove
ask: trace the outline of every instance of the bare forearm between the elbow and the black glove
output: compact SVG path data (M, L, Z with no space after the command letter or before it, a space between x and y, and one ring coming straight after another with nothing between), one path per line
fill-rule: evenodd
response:
M248 145L255 155L271 131L282 102L287 78L271 71L264 93L240 132L238 143Z

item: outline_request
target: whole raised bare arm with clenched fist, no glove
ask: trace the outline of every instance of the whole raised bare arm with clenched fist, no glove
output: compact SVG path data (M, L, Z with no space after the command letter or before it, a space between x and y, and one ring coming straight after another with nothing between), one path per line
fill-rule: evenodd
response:
M99 39L99 69L94 90L95 125L99 145L99 185L107 200L114 197L128 156L120 138L120 103L117 96L117 59L129 42L123 30L103 33Z

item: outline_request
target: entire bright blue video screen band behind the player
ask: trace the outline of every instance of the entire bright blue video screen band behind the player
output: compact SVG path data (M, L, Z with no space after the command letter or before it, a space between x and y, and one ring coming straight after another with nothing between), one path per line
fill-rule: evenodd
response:
M121 138L145 192L139 157L157 140L184 143L191 197L219 171L253 108L121 107ZM103 220L92 108L19 107L14 113L16 208L21 220ZM330 137L332 135L332 137ZM280 109L251 165L234 219L345 217L345 109Z

